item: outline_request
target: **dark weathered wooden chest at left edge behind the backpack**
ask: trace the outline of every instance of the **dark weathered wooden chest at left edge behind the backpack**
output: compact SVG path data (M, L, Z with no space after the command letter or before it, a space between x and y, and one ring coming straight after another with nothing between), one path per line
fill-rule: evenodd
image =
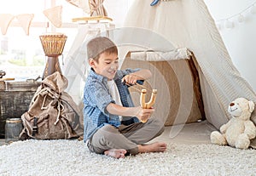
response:
M20 118L28 110L41 82L0 82L0 138L7 118Z

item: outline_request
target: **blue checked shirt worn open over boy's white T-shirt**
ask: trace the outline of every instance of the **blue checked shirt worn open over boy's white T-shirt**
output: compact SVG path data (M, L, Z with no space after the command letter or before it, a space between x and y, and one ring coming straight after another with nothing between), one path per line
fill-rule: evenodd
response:
M119 89L119 95L123 106L133 107L131 94L128 86L121 82L121 79L139 69L126 69L117 71L114 82ZM137 81L143 83L143 81ZM121 122L119 116L108 113L107 106L115 103L108 88L108 78L96 74L90 69L89 75L84 85L84 142L96 133L96 130L102 128L105 124L119 127ZM125 117L127 119L127 117ZM129 117L128 117L129 118ZM130 117L132 118L132 117ZM133 117L132 122L139 122L137 117Z

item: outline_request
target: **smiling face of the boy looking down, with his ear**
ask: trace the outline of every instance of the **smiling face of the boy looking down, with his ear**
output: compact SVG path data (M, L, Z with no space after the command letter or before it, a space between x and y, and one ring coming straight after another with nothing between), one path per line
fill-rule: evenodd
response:
M89 64L98 75L108 77L108 80L112 80L119 68L119 58L115 53L102 53L98 62L90 59Z

